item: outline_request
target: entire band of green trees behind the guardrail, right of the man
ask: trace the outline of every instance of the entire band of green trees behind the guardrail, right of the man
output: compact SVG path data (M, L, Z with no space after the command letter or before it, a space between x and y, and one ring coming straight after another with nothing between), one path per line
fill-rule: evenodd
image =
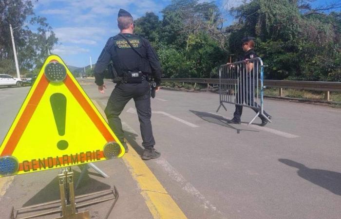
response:
M252 36L267 79L341 81L340 12L313 9L309 0L248 2L232 8L236 22L222 28L214 3L173 0L162 20L147 13L135 31L156 48L165 77L216 77L217 66L228 54L237 60L241 39Z

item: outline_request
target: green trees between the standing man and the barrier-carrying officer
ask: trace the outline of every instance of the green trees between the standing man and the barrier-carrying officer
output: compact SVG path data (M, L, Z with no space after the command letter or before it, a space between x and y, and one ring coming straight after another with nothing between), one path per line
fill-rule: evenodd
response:
M135 32L156 48L164 77L214 77L227 53L211 37L219 23L213 3L176 0L163 11L163 19L147 13L135 21Z

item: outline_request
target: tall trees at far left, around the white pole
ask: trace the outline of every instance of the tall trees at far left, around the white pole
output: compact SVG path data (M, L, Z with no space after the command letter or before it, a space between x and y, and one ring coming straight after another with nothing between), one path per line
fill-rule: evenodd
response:
M40 69L48 51L57 43L46 18L36 16L31 0L0 1L0 69L15 73L14 54L9 25L12 25L20 73Z

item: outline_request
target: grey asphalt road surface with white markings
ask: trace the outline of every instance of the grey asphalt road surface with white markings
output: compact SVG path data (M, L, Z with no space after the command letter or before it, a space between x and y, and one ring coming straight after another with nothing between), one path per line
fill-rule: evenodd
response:
M101 94L91 79L79 80L104 109L114 85L107 82L108 89ZM1 140L28 91L0 89ZM253 110L245 108L243 123L236 125L228 122L234 106L226 104L227 112L221 108L216 113L218 105L218 94L211 92L161 90L152 99L155 148L162 155L144 163L187 218L340 218L341 109L265 99L273 123L260 127L260 119L247 126ZM133 101L121 119L129 143L141 154ZM117 168L111 165L98 163L111 178L92 174L87 179L101 188L114 183L121 191L113 218L155 218L127 162L116 159ZM7 214L12 205L51 201L45 192L52 189L55 176L55 171L43 171L14 177L2 192L0 211ZM83 193L94 190L91 183L83 187ZM57 188L53 195L58 198Z

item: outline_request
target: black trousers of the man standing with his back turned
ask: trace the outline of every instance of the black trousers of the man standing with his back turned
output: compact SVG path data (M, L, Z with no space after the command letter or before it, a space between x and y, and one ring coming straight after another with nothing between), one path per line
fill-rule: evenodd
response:
M115 86L114 91L109 97L107 107L104 112L107 116L109 126L114 131L116 137L122 142L124 132L121 119L118 117L129 100L134 99L137 110L138 120L140 122L140 131L142 136L142 146L150 148L155 145L152 134L152 109L150 85L147 80L140 84L123 84Z

